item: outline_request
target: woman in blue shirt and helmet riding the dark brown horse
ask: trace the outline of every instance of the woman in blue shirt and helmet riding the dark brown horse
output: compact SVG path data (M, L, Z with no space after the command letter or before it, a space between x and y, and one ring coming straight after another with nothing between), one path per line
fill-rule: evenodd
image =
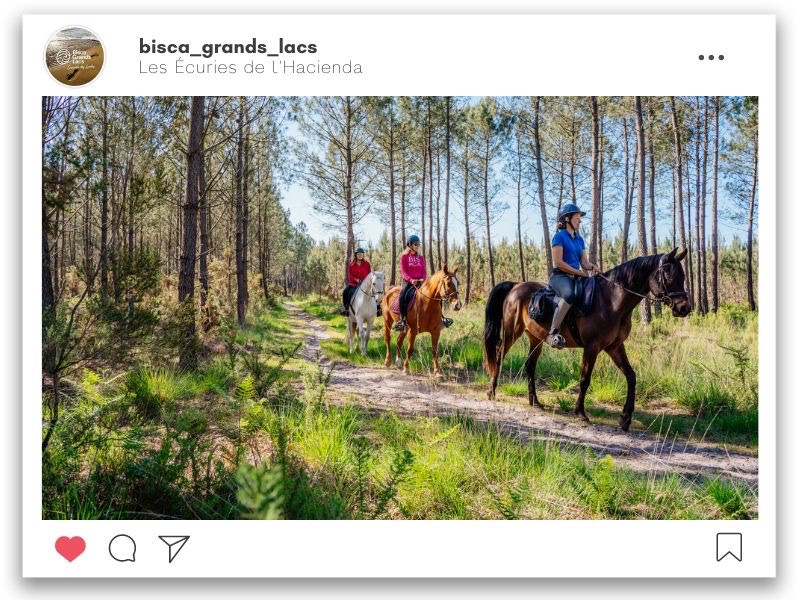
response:
M578 233L582 212L575 204L565 204L558 211L558 231L553 236L553 273L549 285L558 296L558 306L553 315L553 323L547 336L547 343L554 348L563 348L564 336L559 333L561 323L577 300L575 282L578 277L589 277L597 266L586 257L586 244Z

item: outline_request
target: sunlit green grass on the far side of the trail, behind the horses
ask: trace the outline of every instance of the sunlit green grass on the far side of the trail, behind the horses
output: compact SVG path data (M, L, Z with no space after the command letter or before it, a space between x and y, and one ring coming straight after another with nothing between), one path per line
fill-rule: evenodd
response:
M345 342L345 320L336 314L337 304L326 299L296 302L303 310L325 321L331 337L322 344L328 356L354 364L383 364L385 345L381 319L376 319L366 358L350 354ZM458 381L483 396L488 378L483 369L484 306L468 305L448 312L453 327L440 338L440 363L444 381ZM395 340L392 335L394 359ZM725 305L717 314L677 319L665 312L642 329L634 321L626 343L628 358L636 371L636 427L649 427L659 415L668 414L673 431L707 441L758 446L758 315L740 306ZM503 361L499 382L501 397L527 397L524 364L529 352L523 336ZM411 370L431 374L430 336L417 339ZM542 349L537 362L540 400L571 412L580 380L580 351ZM601 422L616 424L625 402L627 384L605 354L598 357L586 405ZM699 432L699 433L698 433Z

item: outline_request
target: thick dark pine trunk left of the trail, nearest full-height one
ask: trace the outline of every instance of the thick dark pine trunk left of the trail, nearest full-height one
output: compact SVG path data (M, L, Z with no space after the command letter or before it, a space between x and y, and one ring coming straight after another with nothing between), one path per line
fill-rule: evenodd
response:
M197 252L198 181L203 168L201 142L203 137L204 96L192 97L192 110L187 152L186 203L183 208L183 255L178 278L178 301L186 304L187 324L184 344L180 353L180 367L193 370L197 367L197 339L195 333L194 265Z

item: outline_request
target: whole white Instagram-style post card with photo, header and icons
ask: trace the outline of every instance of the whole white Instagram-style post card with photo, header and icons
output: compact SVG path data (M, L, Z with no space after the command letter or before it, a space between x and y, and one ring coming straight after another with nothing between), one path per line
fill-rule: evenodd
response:
M775 20L710 19L26 15L23 575L774 577Z

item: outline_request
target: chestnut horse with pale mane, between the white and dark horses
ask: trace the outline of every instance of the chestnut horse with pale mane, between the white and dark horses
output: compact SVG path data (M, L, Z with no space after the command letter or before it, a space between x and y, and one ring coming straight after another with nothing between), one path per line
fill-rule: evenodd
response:
M420 333L431 334L431 348L433 350L433 374L440 376L439 370L439 334L442 329L442 305L449 302L454 310L461 309L461 300L458 298L458 279L456 279L458 268L449 271L447 265L426 279L417 290L414 305L409 309L406 316L406 330L400 332L397 338L397 359L395 364L399 368L400 351L403 347L403 340L408 334L408 351L405 361L402 363L403 372L408 373L408 363L414 353L414 340ZM387 290L383 297L381 308L383 309L383 340L386 342L386 361L388 367L392 364L392 325L400 320L400 315L392 311L392 302L400 293L400 286L394 286Z

